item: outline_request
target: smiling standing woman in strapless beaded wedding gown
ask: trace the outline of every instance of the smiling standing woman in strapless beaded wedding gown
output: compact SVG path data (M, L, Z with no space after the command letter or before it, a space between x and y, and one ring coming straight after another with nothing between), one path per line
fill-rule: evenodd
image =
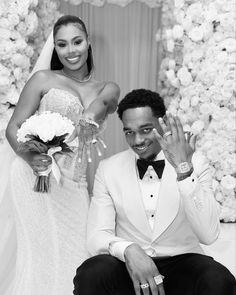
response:
M17 154L8 186L17 229L11 295L70 295L76 268L88 257L86 166L90 153L86 138L78 134L70 143L72 156L56 154L62 184L51 177L50 192L38 193L33 191L35 177L48 168L51 158L19 154L17 130L35 112L49 110L68 117L80 130L84 128L83 134L94 130L97 123L99 133L107 115L115 111L119 97L115 83L93 78L92 48L80 18L59 18L53 28L53 41L51 70L39 70L31 76L6 130Z

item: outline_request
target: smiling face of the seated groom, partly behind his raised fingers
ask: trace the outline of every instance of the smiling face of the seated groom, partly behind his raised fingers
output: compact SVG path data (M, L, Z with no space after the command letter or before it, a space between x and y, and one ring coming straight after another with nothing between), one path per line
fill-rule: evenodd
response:
M129 146L142 159L151 160L160 152L153 128L160 132L158 118L150 107L127 109L122 115L123 131Z

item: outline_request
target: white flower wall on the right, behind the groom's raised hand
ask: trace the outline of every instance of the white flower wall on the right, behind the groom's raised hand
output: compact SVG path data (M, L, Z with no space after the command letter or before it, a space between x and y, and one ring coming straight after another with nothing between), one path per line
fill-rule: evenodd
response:
M169 111L198 134L197 149L211 164L221 220L233 222L236 221L234 0L175 0L172 5L175 23L173 19L167 22L162 34L165 43L159 86Z

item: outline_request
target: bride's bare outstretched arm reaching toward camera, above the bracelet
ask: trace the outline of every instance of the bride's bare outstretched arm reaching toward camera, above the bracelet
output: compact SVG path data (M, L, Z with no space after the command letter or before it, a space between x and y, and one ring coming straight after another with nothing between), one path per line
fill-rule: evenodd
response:
M119 86L113 82L107 82L84 112L85 116L96 122L104 120L108 114L115 112L119 95Z

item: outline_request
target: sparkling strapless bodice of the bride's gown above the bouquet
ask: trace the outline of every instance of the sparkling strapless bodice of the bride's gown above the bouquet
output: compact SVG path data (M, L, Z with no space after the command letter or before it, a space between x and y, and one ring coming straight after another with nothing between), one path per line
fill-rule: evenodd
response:
M42 97L38 111L60 113L76 123L83 110L79 97L64 89L51 88Z

